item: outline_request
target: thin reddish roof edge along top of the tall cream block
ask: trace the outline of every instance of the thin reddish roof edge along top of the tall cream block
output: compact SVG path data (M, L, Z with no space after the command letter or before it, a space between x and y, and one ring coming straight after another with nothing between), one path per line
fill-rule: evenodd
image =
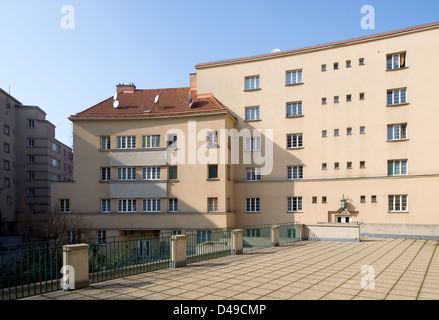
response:
M437 28L437 27L439 27L439 22L425 24L425 25L411 27L411 28L406 28L406 29L397 30L397 31L391 31L391 32L386 32L386 33L370 35L370 36L361 37L361 38L355 38L355 39L338 41L338 42L331 42L331 43L327 43L327 44L321 44L321 45L311 46L311 47L306 47L306 48L301 48L301 49L294 49L294 50L289 50L289 51L281 51L281 52L276 52L276 53L268 53L268 54L256 55L256 56L246 57L246 58L238 58L238 59L230 59L230 60L221 60L221 61L215 61L215 62L200 63L200 64L197 64L195 66L195 68L196 69L202 69L202 68L215 67L215 66L219 66L219 65L243 63L243 62L261 60L261 59L269 59L269 58L288 56L288 55L292 55L292 54L299 54L299 53L304 53L304 52L308 52L308 51L329 49L329 48L332 48L332 47L349 45L349 44L354 44L354 43L363 42L363 41L377 40L377 39L380 39L380 38L385 38L385 37L390 37L390 36L398 36L398 35L402 35L402 34L405 34L405 33L423 31L423 30L427 30L427 29L431 29L431 28Z

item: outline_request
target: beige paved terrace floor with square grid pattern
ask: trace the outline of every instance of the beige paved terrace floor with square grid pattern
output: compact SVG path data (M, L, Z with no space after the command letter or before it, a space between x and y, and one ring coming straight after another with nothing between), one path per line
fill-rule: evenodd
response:
M23 300L438 300L438 245L300 242Z

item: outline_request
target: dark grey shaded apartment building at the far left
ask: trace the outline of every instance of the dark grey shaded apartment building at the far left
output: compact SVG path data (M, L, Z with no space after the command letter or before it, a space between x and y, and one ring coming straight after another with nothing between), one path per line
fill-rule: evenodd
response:
M41 108L1 89L0 108L0 233L16 235L20 213L50 212L51 182L72 179L73 153Z

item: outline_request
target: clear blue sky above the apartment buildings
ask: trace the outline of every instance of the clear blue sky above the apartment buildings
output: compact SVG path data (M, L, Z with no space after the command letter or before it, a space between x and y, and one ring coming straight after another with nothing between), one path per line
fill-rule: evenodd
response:
M74 29L63 29L65 5ZM361 28L361 8L375 29ZM439 21L437 0L0 0L0 88L37 105L72 146L68 117L138 89L185 87L198 63Z

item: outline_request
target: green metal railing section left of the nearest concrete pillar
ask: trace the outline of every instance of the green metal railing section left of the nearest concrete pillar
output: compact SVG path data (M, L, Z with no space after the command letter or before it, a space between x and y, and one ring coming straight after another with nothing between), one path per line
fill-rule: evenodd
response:
M61 242L0 247L0 297L14 300L61 289Z

